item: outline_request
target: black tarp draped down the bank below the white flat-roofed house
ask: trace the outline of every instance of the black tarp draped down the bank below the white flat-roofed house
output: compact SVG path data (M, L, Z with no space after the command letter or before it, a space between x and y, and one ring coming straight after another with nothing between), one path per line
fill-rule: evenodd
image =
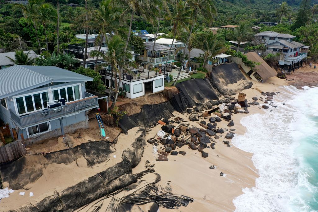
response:
M192 79L183 81L176 86L180 91L174 95L170 101L160 104L143 105L141 112L124 116L119 121L124 133L134 127L144 127L146 129L155 125L159 120L173 117L172 113L184 112L187 108L192 108L209 100L218 100L215 89L208 79Z

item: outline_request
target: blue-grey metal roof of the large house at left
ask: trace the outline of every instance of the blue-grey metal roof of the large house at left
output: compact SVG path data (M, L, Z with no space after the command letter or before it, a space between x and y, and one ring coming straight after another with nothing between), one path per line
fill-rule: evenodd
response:
M93 78L55 66L19 66L2 69L0 99L49 84L51 82L93 81Z

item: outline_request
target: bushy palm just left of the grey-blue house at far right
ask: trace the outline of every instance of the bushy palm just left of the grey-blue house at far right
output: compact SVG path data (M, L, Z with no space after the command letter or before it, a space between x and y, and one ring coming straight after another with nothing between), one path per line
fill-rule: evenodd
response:
M239 26L235 27L231 33L227 34L227 37L231 40L234 40L238 43L239 46L242 42L248 41L253 38L253 31L248 22L241 21Z

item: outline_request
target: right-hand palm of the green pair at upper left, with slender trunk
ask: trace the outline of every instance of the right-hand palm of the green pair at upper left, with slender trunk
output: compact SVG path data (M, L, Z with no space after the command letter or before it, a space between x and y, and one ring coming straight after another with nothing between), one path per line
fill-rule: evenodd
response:
M46 51L49 51L49 45L47 42L47 34L46 34L46 24L50 22L57 21L57 12L53 8L51 4L45 3L42 4L39 8L40 15L41 15L41 23L44 28L44 35L45 35L45 43L46 43Z

